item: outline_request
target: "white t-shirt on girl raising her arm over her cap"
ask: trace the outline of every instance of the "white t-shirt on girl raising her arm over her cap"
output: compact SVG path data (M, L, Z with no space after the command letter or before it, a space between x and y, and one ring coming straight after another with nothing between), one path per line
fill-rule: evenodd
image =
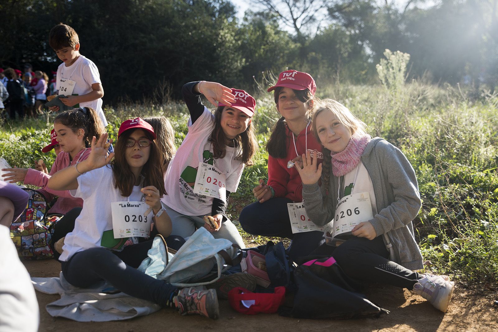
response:
M230 192L237 190L241 180L244 163L235 160L239 155L239 147L226 146L225 158L213 158L213 145L208 142L208 138L215 127L214 121L214 115L206 107L193 124L192 119L189 119L188 134L166 171L164 188L167 195L163 196L162 201L187 216L211 214L213 197L199 195L192 190L199 162L211 164L225 173L226 189Z

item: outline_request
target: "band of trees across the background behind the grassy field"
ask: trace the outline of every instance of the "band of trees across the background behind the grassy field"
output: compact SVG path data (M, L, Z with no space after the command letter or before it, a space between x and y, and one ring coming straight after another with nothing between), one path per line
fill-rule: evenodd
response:
M385 49L411 55L412 77L498 84L498 0L256 2L239 20L228 0L0 0L0 66L55 71L48 32L63 22L99 68L106 103L166 83L179 95L201 79L250 90L261 72L286 68L372 82Z

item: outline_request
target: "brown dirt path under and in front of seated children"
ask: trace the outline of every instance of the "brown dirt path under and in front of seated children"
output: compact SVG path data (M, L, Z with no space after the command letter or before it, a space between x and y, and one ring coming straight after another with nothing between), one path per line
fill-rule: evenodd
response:
M58 276L56 260L24 261L32 277ZM228 301L220 300L221 317L210 320L200 316L180 316L173 309L122 322L79 323L48 315L45 306L58 295L36 292L40 306L40 331L57 332L138 332L138 331L498 331L498 308L494 297L477 296L457 287L448 313L435 310L421 297L391 286L373 286L368 298L389 310L378 319L297 320L277 314L246 316L234 311ZM495 294L496 296L496 294Z

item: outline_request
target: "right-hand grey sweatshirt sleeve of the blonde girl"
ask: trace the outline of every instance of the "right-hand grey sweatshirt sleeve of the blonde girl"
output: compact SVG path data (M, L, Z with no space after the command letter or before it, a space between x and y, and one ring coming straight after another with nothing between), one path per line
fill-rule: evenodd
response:
M370 220L377 236L410 223L418 214L422 202L415 171L403 153L386 141L375 145L374 158L380 172L371 174L375 198L392 202ZM377 181L373 177L378 177ZM376 183L382 184L380 188ZM381 197L378 197L381 195ZM378 206L378 205L377 205Z

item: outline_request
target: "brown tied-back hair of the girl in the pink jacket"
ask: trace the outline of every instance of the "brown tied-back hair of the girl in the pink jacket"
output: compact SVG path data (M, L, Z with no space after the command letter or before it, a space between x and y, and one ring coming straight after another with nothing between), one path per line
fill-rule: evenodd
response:
M80 107L59 113L54 119L54 123L56 122L71 128L73 133L83 129L85 131L83 141L87 148L92 145L92 137L95 136L98 140L106 132L102 120L92 107Z

